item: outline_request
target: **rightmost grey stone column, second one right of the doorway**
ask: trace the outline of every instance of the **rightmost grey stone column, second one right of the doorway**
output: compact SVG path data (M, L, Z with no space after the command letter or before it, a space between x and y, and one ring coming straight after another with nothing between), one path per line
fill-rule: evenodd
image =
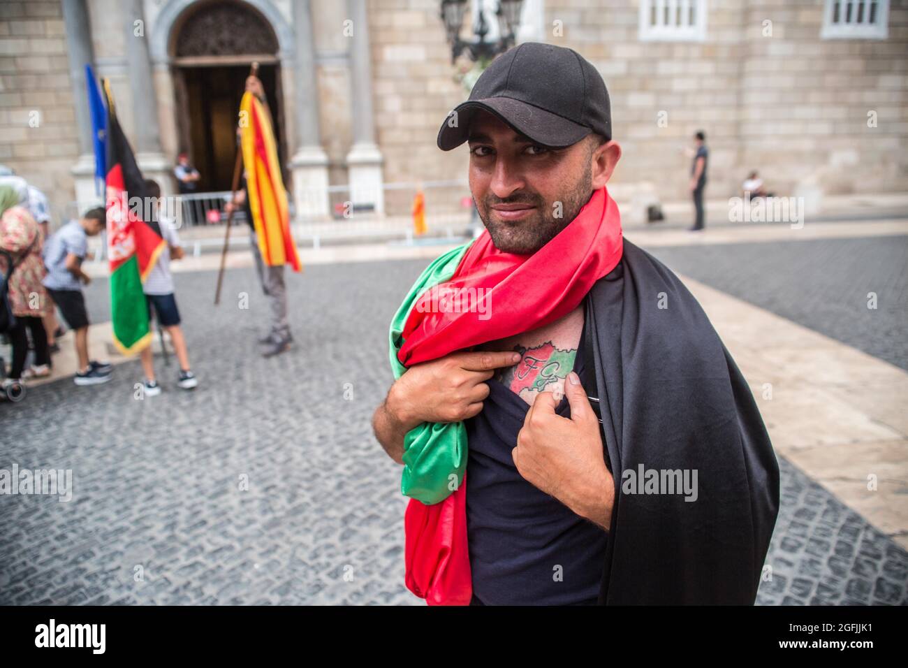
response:
M384 214L382 157L375 144L375 116L372 113L372 68L366 0L347 0L347 11L353 22L353 36L350 39L353 145L347 154L350 201L354 206L372 204L376 213Z

